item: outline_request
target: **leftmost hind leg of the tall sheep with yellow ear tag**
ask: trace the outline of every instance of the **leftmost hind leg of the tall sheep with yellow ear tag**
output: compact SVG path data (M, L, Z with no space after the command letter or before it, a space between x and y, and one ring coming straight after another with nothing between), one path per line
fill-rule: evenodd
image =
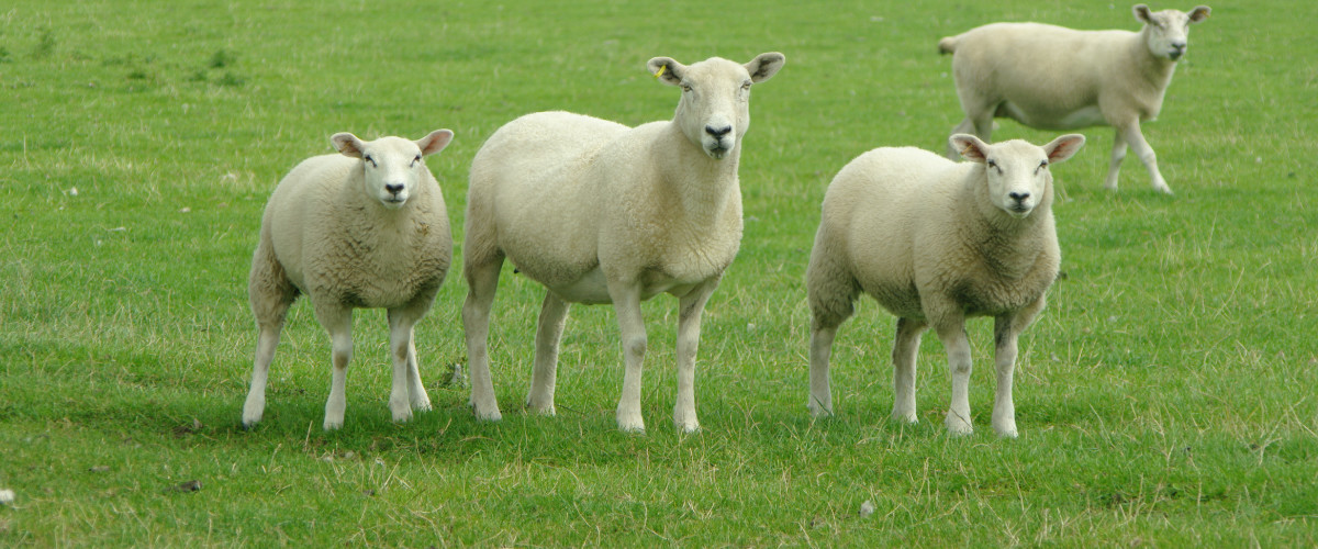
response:
M467 258L467 303L463 304L463 330L467 333L467 361L472 375L472 409L476 419L498 421L503 417L494 398L494 380L490 377L490 357L486 349L486 336L490 329L490 307L494 304L494 291L498 290L498 271L503 267L503 257L478 262Z

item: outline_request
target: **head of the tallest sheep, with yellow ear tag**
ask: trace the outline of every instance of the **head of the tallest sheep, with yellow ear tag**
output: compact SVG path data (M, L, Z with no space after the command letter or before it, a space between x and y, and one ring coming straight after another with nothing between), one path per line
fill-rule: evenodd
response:
M681 133L705 151L722 159L750 128L750 87L768 80L783 67L783 54L759 54L746 65L710 58L691 66L672 58L650 59L650 72L668 86L681 88L675 122Z

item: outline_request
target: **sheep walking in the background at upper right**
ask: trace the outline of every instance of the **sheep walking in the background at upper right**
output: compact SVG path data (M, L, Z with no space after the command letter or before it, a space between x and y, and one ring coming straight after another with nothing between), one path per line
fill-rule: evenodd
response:
M998 22L942 38L938 51L953 54L957 96L966 113L952 133L988 141L994 117L1050 130L1112 126L1116 137L1104 187L1116 191L1130 146L1153 188L1170 195L1140 122L1157 118L1176 62L1185 55L1190 24L1207 18L1210 9L1151 12L1139 4L1133 12L1144 22L1137 33ZM948 149L948 158L957 155Z

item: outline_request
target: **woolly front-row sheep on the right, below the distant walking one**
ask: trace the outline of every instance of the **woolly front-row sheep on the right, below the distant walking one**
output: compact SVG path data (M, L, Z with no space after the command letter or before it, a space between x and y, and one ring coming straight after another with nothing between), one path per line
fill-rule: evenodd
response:
M1016 337L1044 308L1061 257L1049 165L1075 154L1085 137L1061 136L1043 147L1019 140L987 145L967 134L949 141L970 162L913 147L875 149L847 163L825 192L805 275L815 416L833 413L833 338L865 292L898 316L894 420L917 421L915 359L920 336L932 327L952 371L946 428L973 432L965 321L991 316L998 366L992 427L1016 437Z

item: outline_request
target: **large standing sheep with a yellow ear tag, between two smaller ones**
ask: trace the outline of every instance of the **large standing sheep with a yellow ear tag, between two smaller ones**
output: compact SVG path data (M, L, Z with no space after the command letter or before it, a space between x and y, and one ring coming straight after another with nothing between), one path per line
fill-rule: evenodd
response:
M522 116L500 128L472 161L463 305L474 415L502 417L490 379L486 334L503 259L546 287L526 405L552 416L559 338L571 303L612 303L626 370L618 428L645 432L641 373L646 327L641 301L679 299L673 423L700 428L695 361L700 319L741 245L737 180L750 122L751 84L782 68L766 53L749 63L650 59L655 78L681 90L670 121L627 128L568 112Z

